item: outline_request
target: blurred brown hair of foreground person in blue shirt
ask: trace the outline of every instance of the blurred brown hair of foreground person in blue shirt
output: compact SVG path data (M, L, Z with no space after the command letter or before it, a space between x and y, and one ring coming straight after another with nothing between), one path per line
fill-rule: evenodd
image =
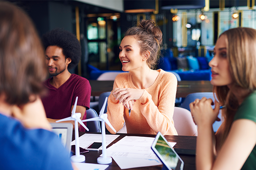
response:
M0 1L0 16L0 95L11 105L23 105L44 91L44 50L23 10Z

